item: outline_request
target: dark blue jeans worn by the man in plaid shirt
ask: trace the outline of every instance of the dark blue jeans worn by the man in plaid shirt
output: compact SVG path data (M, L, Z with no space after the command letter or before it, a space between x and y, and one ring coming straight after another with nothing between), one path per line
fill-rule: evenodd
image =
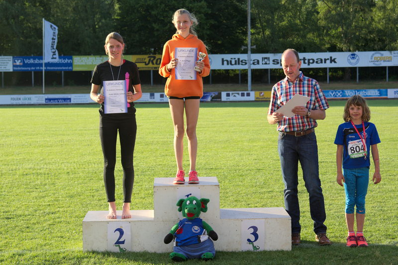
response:
M315 234L326 233L325 203L319 179L318 146L315 132L303 136L279 133L278 152L285 183L285 208L292 218L292 233L300 233L300 207L298 205L298 161L305 187L309 194L309 209L314 221Z

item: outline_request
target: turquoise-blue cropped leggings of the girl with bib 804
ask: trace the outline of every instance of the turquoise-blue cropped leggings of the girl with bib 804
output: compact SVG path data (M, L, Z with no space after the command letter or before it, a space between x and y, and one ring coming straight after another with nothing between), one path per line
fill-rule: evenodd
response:
M345 213L365 214L365 197L369 185L369 168L343 169L345 190Z

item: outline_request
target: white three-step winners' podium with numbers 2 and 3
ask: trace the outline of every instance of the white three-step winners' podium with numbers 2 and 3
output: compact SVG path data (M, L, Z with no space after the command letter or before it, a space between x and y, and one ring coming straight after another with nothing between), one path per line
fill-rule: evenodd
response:
M291 250L291 218L283 207L220 209L216 177L199 184L175 185L171 177L154 180L154 210L132 210L132 218L107 219L107 211L89 211L83 219L83 251L172 252L164 237L182 218L177 201L187 196L208 198L200 218L218 234L216 251Z

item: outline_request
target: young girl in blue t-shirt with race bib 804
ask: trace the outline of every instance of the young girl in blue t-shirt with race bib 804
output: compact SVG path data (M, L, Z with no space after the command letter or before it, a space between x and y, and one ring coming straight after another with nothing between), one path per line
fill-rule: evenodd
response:
M346 203L345 219L348 236L347 247L367 247L363 234L365 222L365 196L369 184L370 150L375 173L372 181L381 181L379 134L375 124L369 122L370 109L360 95L351 96L344 107L344 123L340 124L334 143L337 145L337 183L344 185ZM343 168L343 170L342 170ZM357 233L354 232L354 206L356 206Z

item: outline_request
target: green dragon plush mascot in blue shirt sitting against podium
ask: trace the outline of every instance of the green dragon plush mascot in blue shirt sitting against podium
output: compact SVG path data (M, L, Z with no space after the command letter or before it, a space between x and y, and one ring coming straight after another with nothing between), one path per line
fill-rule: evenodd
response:
M214 258L215 250L211 239L216 241L217 233L199 218L200 212L207 211L209 201L190 196L177 202L178 211L182 212L184 219L173 226L164 239L165 244L174 239L174 249L170 253L170 259L173 261L183 262L188 259L207 261Z

